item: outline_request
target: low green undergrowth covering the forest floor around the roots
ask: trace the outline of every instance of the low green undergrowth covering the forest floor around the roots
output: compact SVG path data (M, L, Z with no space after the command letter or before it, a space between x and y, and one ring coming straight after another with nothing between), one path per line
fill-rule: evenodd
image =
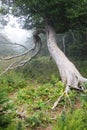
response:
M87 74L87 62L75 63ZM49 57L36 58L26 66L0 77L0 130L86 130L87 94L72 91L73 107L65 96L55 111L51 108L64 85ZM78 108L78 109L77 109ZM74 127L73 127L74 126Z

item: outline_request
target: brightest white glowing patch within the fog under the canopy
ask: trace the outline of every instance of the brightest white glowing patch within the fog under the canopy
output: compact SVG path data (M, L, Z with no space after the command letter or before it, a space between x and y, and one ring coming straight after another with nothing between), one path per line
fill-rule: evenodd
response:
M4 28L4 33L11 40L11 42L24 44L27 38L32 36L32 31L27 31L21 28L17 18L10 16L8 24Z

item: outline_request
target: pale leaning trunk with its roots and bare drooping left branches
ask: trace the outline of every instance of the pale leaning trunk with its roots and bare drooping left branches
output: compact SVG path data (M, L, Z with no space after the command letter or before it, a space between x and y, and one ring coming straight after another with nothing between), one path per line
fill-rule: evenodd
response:
M76 69L75 65L59 49L59 47L57 45L55 30L48 24L46 24L46 30L39 29L34 32L34 34L33 34L33 38L34 38L34 42L35 42L34 48L32 48L31 50L27 50L27 48L24 47L26 52L23 54L15 55L15 56L7 57L7 58L0 57L0 60L10 60L10 59L21 57L21 56L24 56L24 57L26 55L30 56L27 60L25 60L23 57L20 60L13 62L0 75L6 73L10 69L17 68L19 66L23 66L25 63L30 61L34 56L36 56L38 54L38 52L41 49L41 43L42 43L41 39L39 37L40 33L46 33L48 50L51 54L51 57L56 62L56 65L59 69L60 76L61 76L63 83L66 85L64 93L54 103L54 105L52 107L52 109L54 109L65 93L68 96L68 92L70 91L71 88L83 91L84 90L83 82L87 82L87 79L84 78L79 73L79 71ZM69 99L69 96L68 96L68 99ZM70 99L69 99L69 102L70 102ZM70 102L70 104L71 104L71 102Z

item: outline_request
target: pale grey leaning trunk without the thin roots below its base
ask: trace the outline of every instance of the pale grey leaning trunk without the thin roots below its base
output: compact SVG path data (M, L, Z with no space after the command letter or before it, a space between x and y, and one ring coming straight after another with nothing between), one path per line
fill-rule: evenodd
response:
M83 82L87 82L87 79L82 77L75 65L69 61L65 54L57 46L56 33L54 29L47 25L47 46L48 50L55 60L60 72L61 79L66 87L83 90Z

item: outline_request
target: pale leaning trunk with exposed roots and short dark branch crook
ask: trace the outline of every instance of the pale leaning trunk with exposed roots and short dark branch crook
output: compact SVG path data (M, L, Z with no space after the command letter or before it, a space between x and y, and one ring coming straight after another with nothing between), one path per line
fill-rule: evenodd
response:
M44 32L46 33L46 36L47 36L47 46L48 46L50 55L56 62L56 65L60 72L61 79L63 83L66 85L65 91L62 93L60 97L58 97L57 101L54 103L52 107L52 110L55 109L55 107L58 105L58 103L60 102L60 100L65 94L68 97L70 106L72 106L71 100L68 95L70 89L73 88L75 90L84 91L83 82L87 82L87 79L84 78L79 73L75 65L60 50L60 48L57 45L55 30L49 24L46 23L45 31L39 30L35 32L35 35L34 35L35 41L38 42L38 39L40 39L38 35Z

